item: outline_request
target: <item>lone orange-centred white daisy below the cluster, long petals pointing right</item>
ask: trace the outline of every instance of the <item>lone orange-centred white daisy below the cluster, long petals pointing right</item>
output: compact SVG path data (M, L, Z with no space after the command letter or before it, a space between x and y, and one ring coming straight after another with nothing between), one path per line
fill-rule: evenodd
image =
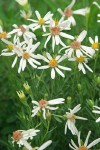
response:
M52 107L52 105L62 104L64 103L64 100L65 99L63 98L57 98L49 101L41 99L39 102L33 100L32 103L36 106L33 106L32 117L34 117L39 111L43 111L43 118L46 119L46 113L49 110L58 109L58 107Z

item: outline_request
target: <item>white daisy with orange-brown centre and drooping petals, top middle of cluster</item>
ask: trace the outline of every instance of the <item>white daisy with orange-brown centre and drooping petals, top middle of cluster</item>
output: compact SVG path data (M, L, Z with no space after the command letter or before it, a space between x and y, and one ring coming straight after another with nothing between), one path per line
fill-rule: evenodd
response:
M73 36L62 32L62 30L70 30L70 22L63 19L60 19L59 21L51 19L50 21L50 33L46 33L43 36L48 36L47 40L44 44L44 48L46 48L47 43L52 38L52 49L54 51L55 45L61 44L62 46L65 46L65 44L61 41L60 36L68 39L74 39Z

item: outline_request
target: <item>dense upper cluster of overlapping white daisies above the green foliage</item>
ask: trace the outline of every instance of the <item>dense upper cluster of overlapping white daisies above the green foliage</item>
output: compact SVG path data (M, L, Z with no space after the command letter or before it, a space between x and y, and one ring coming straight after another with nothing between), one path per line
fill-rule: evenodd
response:
M62 11L60 8L58 11L62 14L62 17L59 21L54 20L53 14L48 12L44 17L41 17L38 11L35 11L37 20L28 19L32 23L30 25L16 25L14 24L14 29L7 33L4 32L2 27L0 27L0 39L7 44L7 48L2 50L2 56L15 56L15 59L12 63L12 68L17 63L17 60L20 59L18 73L24 71L26 68L26 63L28 62L33 68L37 69L48 69L51 68L51 78L55 78L55 71L60 74L62 77L65 77L64 73L61 70L71 71L71 68L61 66L60 63L63 60L76 61L78 62L78 69L86 74L85 67L91 71L92 69L87 65L88 59L92 58L96 50L99 48L98 37L95 36L95 40L89 37L91 47L82 45L82 41L87 35L87 31L83 30L79 36L72 36L64 31L71 30L71 26L76 25L74 19L74 14L79 14L85 16L89 9L83 8L76 11L72 10L75 0L72 0L71 4ZM46 52L46 56L41 54L35 54L35 50L40 45L40 42L33 44L33 40L36 41L35 31L41 28L43 32L46 32L49 29L49 33L45 33L42 36L47 36L47 39L44 43L44 48L47 48L47 43L52 39L52 52L55 51L55 46L61 45L62 48L58 50L56 56L51 56L51 52ZM8 38L11 38L11 35L14 35L13 42L9 41ZM21 41L23 37L23 41ZM67 38L72 40L70 45L66 45L61 38ZM65 49L63 56L59 54L62 50ZM39 59L45 61L47 65L39 66L41 63ZM39 66L39 67L38 67Z

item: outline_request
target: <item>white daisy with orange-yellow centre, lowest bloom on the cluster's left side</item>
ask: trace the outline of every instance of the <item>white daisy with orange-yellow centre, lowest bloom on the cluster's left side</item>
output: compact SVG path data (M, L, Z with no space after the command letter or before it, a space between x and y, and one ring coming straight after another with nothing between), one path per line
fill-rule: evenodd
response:
M20 49L20 64L18 68L18 73L21 71L24 71L26 68L26 63L28 62L33 68L37 68L37 65L41 65L40 62L38 62L35 59L39 59L37 55L34 54L37 47L40 45L40 42L37 42L35 45L32 45L32 39L29 41L29 44L27 47L23 47ZM14 62L14 65L16 62Z

